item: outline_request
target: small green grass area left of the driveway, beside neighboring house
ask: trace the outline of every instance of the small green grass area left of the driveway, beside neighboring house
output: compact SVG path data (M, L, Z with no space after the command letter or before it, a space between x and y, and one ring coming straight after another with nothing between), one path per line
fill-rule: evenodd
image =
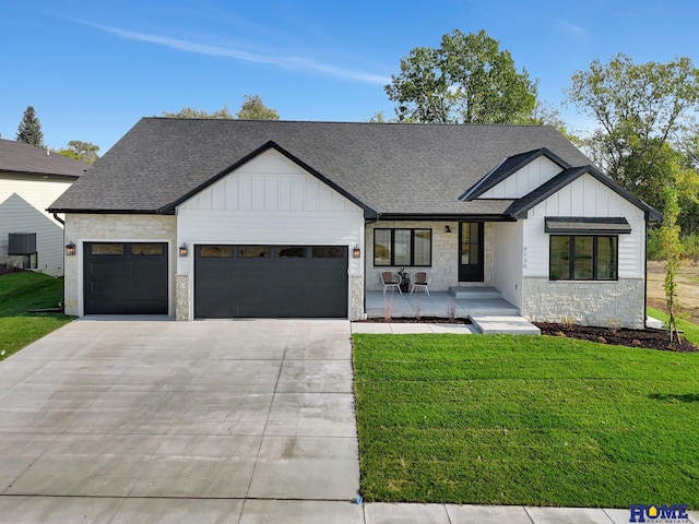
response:
M63 281L40 273L23 272L0 276L0 353L2 358L70 322L59 313L27 313L29 309L54 308L63 300Z

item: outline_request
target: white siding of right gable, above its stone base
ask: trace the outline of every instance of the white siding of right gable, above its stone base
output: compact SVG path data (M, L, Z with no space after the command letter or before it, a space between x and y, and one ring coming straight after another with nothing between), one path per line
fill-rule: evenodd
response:
M631 225L619 235L619 278L644 278L645 217L643 211L612 191L591 175L583 175L534 206L524 221L525 277L548 278L547 216L623 216Z

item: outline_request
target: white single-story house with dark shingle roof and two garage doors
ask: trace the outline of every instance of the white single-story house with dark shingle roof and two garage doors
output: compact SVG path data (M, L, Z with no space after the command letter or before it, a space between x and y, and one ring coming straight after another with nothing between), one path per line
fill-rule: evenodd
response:
M550 127L145 118L52 205L72 314L365 317L386 270L645 319L660 214Z

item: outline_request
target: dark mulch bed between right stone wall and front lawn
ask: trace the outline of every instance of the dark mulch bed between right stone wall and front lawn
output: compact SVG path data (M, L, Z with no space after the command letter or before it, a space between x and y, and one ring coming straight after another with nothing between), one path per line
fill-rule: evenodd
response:
M664 330L612 330L609 327L564 325L543 322L534 322L534 324L542 330L542 335L565 336L601 344L643 347L664 352L699 353L699 347L684 338L679 342L670 342L670 336Z

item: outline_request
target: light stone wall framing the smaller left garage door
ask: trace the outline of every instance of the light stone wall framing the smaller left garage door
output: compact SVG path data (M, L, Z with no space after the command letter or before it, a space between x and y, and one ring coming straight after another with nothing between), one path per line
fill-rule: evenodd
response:
M79 314L79 261L86 241L168 241L170 272L177 255L177 217L163 215L75 214L66 216L66 243L75 242L78 254L66 257L66 314ZM173 281L173 287L175 282ZM175 296L173 288L170 295Z

